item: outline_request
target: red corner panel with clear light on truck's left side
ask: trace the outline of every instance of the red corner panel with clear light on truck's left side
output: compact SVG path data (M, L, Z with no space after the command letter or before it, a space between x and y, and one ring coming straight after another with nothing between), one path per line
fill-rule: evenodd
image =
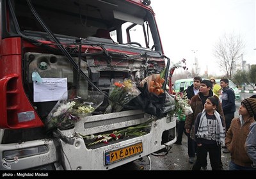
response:
M24 93L19 75L4 76L0 79L0 89L0 128L44 126Z

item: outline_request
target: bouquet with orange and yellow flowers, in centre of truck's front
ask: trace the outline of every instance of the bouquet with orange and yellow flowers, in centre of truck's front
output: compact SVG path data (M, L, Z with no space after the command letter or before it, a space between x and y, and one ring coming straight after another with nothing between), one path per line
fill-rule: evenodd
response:
M121 111L125 104L141 93L131 79L124 79L124 82L112 79L111 84L111 89L109 89L110 104L106 109L106 113Z

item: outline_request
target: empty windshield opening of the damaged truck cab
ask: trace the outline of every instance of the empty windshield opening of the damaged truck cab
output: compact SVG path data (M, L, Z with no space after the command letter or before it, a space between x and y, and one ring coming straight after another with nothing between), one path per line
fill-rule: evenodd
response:
M45 32L27 1L13 1L22 33ZM54 34L74 38L105 38L109 43L129 44L161 51L154 14L127 1L30 1L38 16ZM11 29L12 31L12 29Z

